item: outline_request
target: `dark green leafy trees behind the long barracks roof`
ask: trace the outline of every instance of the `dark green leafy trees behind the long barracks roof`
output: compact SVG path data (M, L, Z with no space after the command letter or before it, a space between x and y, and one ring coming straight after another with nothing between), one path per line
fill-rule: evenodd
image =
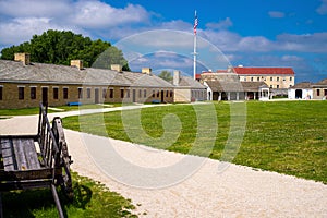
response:
M29 41L1 50L1 59L13 60L14 53L28 52L31 61L69 65L71 60L83 60L85 68L110 69L111 64L121 64L130 71L123 52L101 39L92 40L71 31L49 29L34 35Z

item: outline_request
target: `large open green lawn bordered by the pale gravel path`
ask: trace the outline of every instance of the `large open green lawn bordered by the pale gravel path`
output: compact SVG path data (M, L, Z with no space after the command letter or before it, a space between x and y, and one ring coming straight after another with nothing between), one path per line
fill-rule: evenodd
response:
M327 184L327 101L249 101L246 102L247 117L235 118L232 133L229 135L231 106L235 104L215 104L218 120L216 136L213 136L215 130L215 125L211 125L215 123L213 114L206 114L206 107L210 106L205 105L196 106L198 107L196 110L191 105L142 109L141 125L145 133L154 138L140 130L137 111L124 111L123 118L129 120L124 124L120 111L84 116L80 119L78 117L65 118L63 123L65 128L92 134L123 141L133 140L135 143L156 148L221 159L222 154L233 146L233 132L238 131L238 124L241 130L242 119L246 119L244 137L232 162ZM180 119L180 125L170 124L173 119L162 122L162 119L170 113ZM196 121L198 118L201 122ZM166 132L162 123L167 126ZM204 123L207 123L207 126L204 126ZM205 136L206 132L209 136ZM195 138L196 145L194 145ZM228 138L231 144L227 147ZM173 143L167 145L170 141ZM214 142L213 149L211 142ZM209 154L206 148L210 149Z

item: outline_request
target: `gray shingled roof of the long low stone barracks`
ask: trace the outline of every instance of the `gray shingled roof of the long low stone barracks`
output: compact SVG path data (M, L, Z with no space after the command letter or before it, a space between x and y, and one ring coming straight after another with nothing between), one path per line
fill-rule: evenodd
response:
M0 82L173 87L155 75L93 68L78 70L45 63L23 65L22 62L5 60L0 60Z

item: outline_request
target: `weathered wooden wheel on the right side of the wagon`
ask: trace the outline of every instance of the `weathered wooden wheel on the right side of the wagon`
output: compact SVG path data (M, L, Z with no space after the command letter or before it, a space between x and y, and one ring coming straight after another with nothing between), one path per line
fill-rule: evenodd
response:
M57 145L59 146L59 150L61 150L59 167L62 168L62 173L57 177L57 185L60 185L65 195L69 198L72 198L73 187L70 166L73 161L71 160L71 156L69 155L61 119L58 117L53 118L52 131Z

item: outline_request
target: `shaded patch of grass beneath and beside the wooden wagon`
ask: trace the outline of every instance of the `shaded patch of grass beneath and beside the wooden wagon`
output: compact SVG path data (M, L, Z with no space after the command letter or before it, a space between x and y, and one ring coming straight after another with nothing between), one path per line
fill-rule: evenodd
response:
M73 173L73 201L58 192L65 217L137 217L130 199L98 182ZM2 193L2 206L3 217L58 217L50 189Z

